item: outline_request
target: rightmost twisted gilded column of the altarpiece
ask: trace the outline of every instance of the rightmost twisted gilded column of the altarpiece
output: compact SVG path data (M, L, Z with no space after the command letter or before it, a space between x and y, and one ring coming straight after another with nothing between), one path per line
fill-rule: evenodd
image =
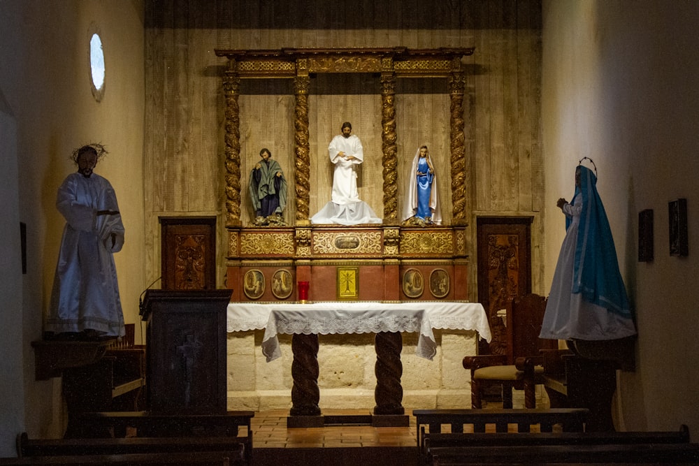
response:
M463 73L452 73L449 78L449 139L452 152L452 224L468 223L466 218L466 159L463 136L463 89L466 79Z

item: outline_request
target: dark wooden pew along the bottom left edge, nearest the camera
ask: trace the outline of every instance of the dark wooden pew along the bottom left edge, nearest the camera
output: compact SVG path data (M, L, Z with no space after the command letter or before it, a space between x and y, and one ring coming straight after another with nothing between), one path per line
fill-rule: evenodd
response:
M95 466L229 466L234 465L225 451L188 453L133 453L124 455L34 456L0 458L0 465L95 465Z

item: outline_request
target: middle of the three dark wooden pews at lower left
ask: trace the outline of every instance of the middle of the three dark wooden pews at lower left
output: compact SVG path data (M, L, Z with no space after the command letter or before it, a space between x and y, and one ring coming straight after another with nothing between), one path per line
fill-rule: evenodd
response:
M17 435L17 457L130 455L142 453L226 453L231 465L250 465L247 437L128 437L107 439L29 439Z

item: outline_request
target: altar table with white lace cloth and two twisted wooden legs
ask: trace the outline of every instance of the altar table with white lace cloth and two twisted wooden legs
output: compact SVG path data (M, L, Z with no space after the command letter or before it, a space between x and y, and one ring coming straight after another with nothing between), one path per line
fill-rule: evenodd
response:
M407 416L403 416L402 405L401 332L419 333L415 352L429 360L437 348L433 328L476 330L485 340L491 339L487 315L479 303L229 304L229 331L261 329L262 326L266 330L261 348L268 362L281 356L278 333L293 335L291 374L294 386L291 389L291 416L287 420L287 425L293 427L320 427L326 423L318 406L318 334L376 334L376 406L373 414L382 419L372 419L373 425L406 425L408 421Z

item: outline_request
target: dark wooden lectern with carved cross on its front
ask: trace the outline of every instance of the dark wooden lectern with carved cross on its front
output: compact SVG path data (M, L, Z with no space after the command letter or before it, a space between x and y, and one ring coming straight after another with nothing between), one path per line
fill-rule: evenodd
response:
M148 290L147 400L153 414L225 414L231 290Z

